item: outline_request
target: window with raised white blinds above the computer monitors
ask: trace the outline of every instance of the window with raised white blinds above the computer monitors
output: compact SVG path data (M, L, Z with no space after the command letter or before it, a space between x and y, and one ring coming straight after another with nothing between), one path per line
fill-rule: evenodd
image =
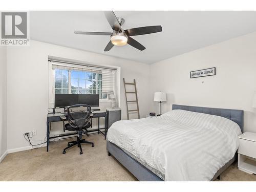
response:
M99 94L102 100L108 100L115 94L115 76L113 69L101 69L81 65L68 65L50 61L50 103L54 103L54 94Z

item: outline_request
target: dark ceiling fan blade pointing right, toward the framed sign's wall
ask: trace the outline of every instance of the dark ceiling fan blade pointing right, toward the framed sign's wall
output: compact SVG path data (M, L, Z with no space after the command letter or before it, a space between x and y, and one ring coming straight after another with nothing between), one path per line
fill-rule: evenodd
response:
M138 27L138 28L133 28L133 29L126 29L124 31L129 36L145 35L145 34L150 34L150 33L161 32L162 27L160 25L158 25L158 26L147 26L147 27Z

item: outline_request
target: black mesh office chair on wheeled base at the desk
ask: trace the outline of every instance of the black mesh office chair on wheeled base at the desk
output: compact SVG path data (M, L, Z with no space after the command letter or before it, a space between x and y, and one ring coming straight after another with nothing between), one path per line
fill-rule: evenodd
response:
M86 109L84 110L77 110L74 108L78 108L80 106L85 107ZM91 106L87 104L75 104L72 105L68 108L68 121L69 123L65 124L66 117L61 116L60 118L63 121L63 132L66 130L68 131L76 131L77 132L77 139L76 141L71 141L68 142L68 147L66 147L63 150L63 154L66 154L66 150L72 146L77 145L77 147L80 147L80 155L82 154L82 147L81 143L86 143L86 144L92 144L92 147L94 147L93 142L86 141L85 139L82 139L82 134L87 133L87 129L91 126L90 123L90 117L91 117Z

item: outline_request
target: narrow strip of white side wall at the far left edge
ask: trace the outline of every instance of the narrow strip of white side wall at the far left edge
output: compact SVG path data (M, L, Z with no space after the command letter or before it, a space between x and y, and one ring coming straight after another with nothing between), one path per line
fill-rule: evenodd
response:
M7 152L6 47L0 47L0 162Z

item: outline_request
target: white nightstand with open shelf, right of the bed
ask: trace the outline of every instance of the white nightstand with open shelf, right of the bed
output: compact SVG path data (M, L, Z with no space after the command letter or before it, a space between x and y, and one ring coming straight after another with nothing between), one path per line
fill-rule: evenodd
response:
M256 133L245 132L238 136L238 168L256 174Z

